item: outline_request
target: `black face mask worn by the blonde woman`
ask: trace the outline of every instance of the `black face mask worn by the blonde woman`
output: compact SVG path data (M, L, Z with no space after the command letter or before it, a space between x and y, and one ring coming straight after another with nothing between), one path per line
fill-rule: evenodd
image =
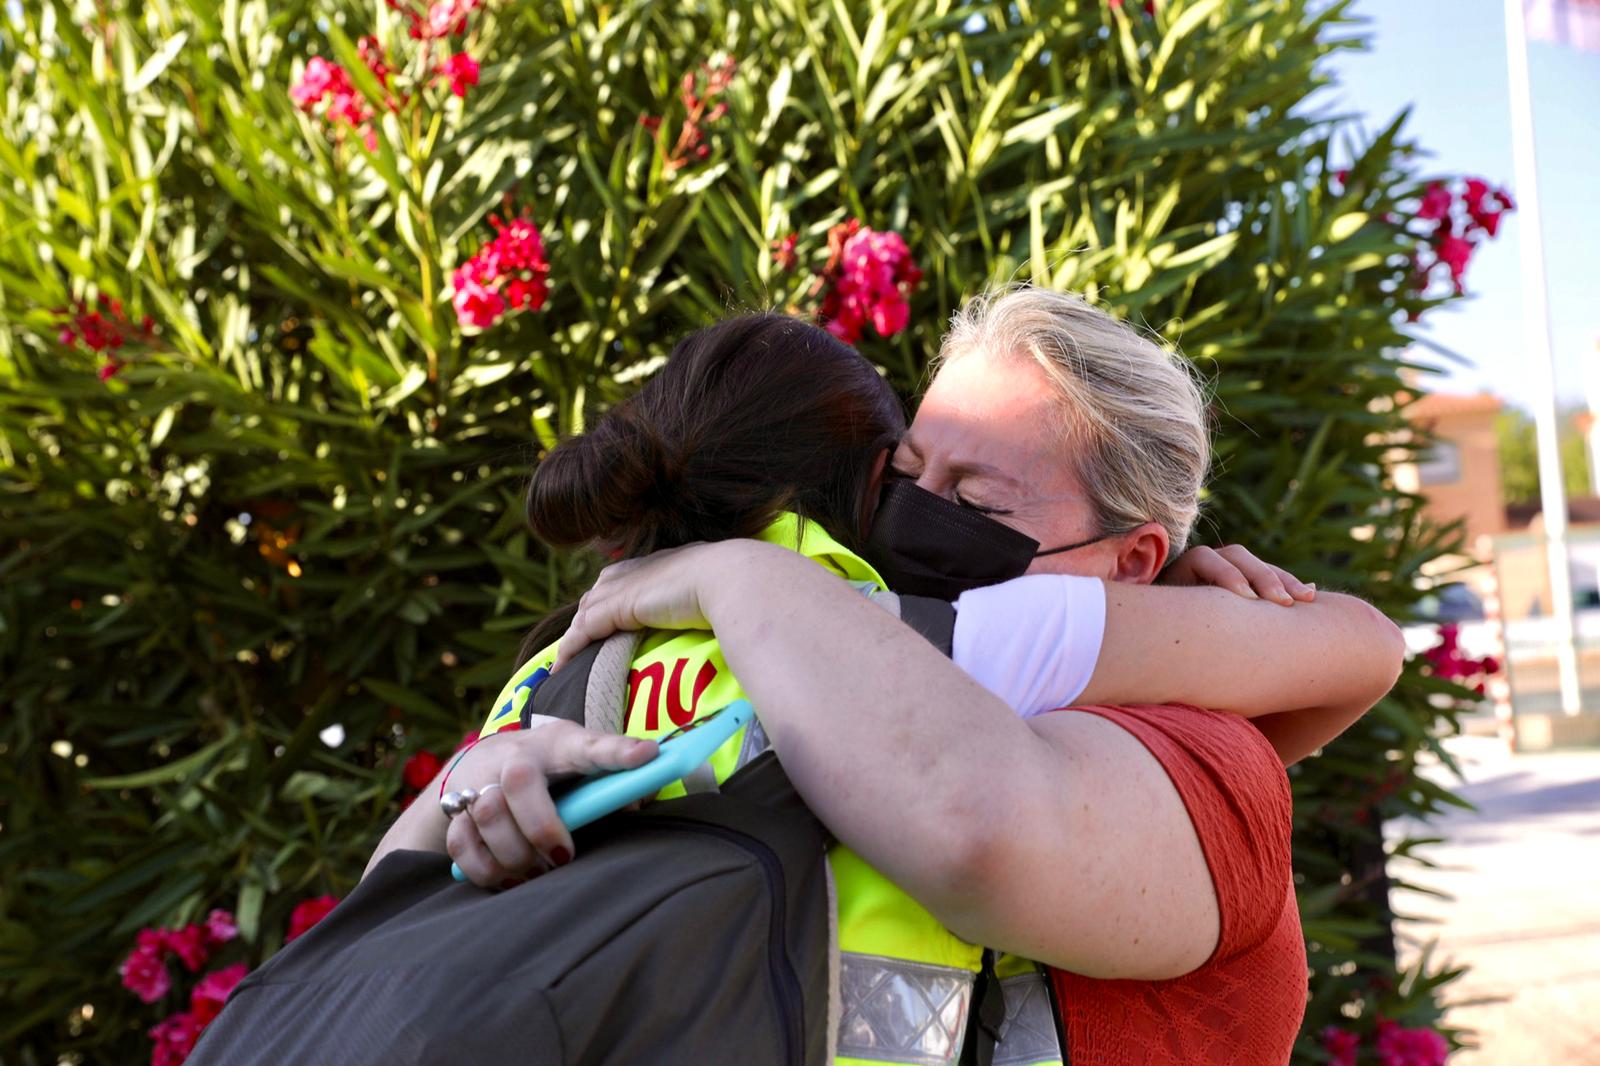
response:
M909 477L891 477L862 555L894 592L954 600L968 589L1021 578L1040 555L1070 552L1107 536L1038 551L1038 541L1027 533L936 496Z

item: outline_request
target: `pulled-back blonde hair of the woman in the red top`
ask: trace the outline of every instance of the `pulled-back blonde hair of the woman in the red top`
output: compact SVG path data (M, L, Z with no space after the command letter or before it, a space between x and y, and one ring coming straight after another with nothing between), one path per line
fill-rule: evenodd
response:
M1170 554L1184 549L1211 459L1205 397L1187 360L1082 296L1032 285L968 301L950 319L936 367L978 351L1034 359L1056 384L1059 429L1098 533L1158 522Z

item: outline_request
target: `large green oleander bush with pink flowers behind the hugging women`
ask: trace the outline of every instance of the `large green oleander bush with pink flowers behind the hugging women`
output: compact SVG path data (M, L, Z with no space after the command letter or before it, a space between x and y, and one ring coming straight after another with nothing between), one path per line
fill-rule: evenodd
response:
M1347 8L6 5L0 1061L179 1061L352 887L595 570L525 530L541 451L730 311L910 397L965 296L1088 293L1214 383L1202 539L1408 618L1406 330L1493 222L1318 104ZM1301 1061L1443 1024L1379 824L1454 802L1466 699L1413 664L1293 771Z

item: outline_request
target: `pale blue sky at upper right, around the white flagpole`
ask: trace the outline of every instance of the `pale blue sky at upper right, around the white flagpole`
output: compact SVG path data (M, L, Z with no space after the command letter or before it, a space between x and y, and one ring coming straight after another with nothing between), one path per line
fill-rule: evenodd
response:
M1403 107L1413 141L1440 176L1477 176L1517 194L1506 88L1501 0L1357 0L1371 38L1365 53L1331 61L1330 99L1360 114L1370 133ZM1600 386L1600 53L1530 42L1544 259L1549 282L1555 387L1579 400ZM1486 389L1528 408L1530 368L1522 296L1525 219L1507 214L1467 272L1470 299L1440 307L1419 330L1467 360L1432 387ZM1446 360L1424 355L1421 362ZM1597 389L1600 391L1600 389Z

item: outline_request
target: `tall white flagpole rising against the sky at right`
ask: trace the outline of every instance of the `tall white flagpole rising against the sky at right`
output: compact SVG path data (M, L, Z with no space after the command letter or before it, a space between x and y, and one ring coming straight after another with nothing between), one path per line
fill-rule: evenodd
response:
M1555 664L1562 679L1562 711L1582 709L1578 648L1573 634L1573 579L1566 565L1566 491L1555 415L1555 367L1550 354L1550 312L1544 288L1544 242L1539 227L1539 170L1534 163L1533 90L1528 83L1528 30L1523 2L1506 0L1506 69L1510 82L1510 133L1517 173L1517 213L1522 216L1522 307L1526 322L1526 363L1536 392L1533 418L1539 442L1539 506L1544 511L1546 554L1550 568L1550 616L1555 623Z

